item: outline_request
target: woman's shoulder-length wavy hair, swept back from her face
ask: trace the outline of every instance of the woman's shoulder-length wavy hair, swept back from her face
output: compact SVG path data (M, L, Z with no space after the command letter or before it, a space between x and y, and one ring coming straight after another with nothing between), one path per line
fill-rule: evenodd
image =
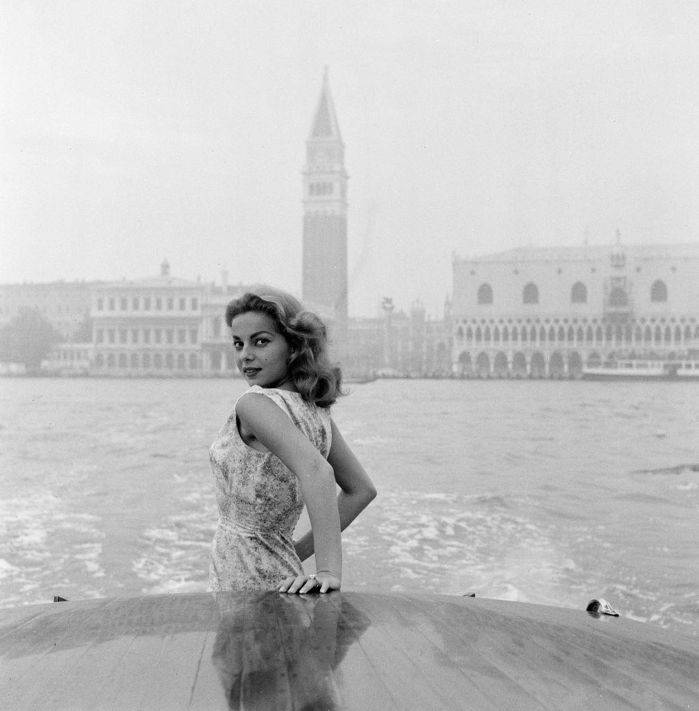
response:
M240 314L255 311L270 316L277 331L284 336L292 355L289 375L306 400L318 407L330 407L345 393L342 390L342 370L330 362L328 334L325 324L312 311L306 311L291 294L272 287L257 287L239 299L230 301L225 309L225 323Z

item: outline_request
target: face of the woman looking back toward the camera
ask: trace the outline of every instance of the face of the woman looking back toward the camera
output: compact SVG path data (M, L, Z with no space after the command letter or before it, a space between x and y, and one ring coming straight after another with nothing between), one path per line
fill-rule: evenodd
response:
M235 365L248 385L296 390L289 378L292 350L270 316L259 311L239 314L230 322L230 332Z

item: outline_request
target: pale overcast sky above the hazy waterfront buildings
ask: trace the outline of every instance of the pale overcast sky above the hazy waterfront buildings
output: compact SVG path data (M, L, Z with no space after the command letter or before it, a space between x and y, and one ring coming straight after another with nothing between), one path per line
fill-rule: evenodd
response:
M350 311L441 314L452 255L699 240L695 2L3 0L0 282L301 291L329 67Z

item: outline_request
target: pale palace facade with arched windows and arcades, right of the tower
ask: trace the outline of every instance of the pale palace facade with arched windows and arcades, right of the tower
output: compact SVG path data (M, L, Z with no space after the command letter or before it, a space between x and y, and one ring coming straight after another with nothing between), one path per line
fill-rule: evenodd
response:
M452 373L579 377L699 349L699 245L528 247L454 257Z

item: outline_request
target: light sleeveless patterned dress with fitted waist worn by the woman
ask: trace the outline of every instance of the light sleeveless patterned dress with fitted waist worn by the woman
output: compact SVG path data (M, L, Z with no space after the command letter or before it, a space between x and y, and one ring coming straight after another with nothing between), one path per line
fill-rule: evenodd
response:
M328 409L276 387L253 385L243 395L247 392L269 397L327 459ZM209 447L209 459L218 504L209 589L267 590L302 574L292 539L304 508L297 476L272 452L257 451L242 441L235 407Z

